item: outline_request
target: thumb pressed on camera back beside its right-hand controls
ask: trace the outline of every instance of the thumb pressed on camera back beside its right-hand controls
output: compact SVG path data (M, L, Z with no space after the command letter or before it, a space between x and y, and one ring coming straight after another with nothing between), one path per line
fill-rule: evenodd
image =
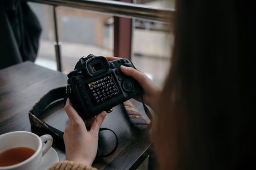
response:
M128 76L132 76L135 80L138 81L138 83L140 85L145 85L147 79L149 79L146 74L138 71L137 69L131 68L131 67L125 67L125 66L121 66L120 67L121 71L128 75Z

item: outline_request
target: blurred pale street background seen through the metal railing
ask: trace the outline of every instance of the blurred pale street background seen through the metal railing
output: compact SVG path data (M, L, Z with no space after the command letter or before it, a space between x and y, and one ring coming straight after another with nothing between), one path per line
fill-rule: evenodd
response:
M42 27L37 65L57 70L53 6L28 2ZM152 7L174 8L174 0L134 0ZM78 8L56 7L61 42L62 72L74 69L79 58L88 54L114 56L114 16ZM173 33L165 22L133 18L131 53L128 57L141 71L162 84L169 69ZM120 28L121 29L121 28ZM126 31L120 31L120 36ZM120 51L126 48L121 47ZM117 54L119 55L119 54Z

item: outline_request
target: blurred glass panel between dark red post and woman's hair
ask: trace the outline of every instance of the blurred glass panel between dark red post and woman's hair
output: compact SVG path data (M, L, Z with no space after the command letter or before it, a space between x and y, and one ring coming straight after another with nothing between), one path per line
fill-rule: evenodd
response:
M132 61L150 78L162 84L170 66L174 35L162 22L134 20Z

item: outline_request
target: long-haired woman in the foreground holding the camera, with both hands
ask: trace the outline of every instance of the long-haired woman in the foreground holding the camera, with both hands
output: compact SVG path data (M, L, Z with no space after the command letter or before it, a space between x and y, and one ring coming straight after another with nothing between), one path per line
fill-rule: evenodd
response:
M142 85L145 103L158 115L153 142L159 169L254 166L252 8L248 1L178 0L174 53L163 89L138 70L121 68ZM74 162L57 163L51 170L71 164L93 169L98 129L106 113L99 114L87 132L70 102L65 110L70 119L64 136L66 157ZM73 145L74 138L81 143ZM90 150L80 150L88 145Z

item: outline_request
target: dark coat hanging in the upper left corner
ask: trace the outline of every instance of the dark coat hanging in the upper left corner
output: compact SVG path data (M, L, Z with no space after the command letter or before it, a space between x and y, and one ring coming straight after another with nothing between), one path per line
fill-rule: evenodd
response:
M0 69L35 61L41 26L24 0L0 0Z

